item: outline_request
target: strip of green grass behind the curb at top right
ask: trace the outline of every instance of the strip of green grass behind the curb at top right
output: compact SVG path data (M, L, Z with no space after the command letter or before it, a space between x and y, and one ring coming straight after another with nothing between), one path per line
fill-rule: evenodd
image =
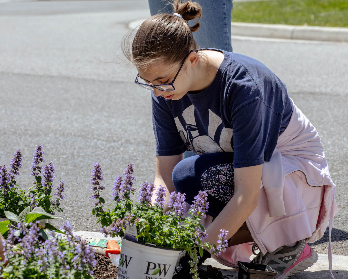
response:
M233 2L232 21L348 27L348 0Z

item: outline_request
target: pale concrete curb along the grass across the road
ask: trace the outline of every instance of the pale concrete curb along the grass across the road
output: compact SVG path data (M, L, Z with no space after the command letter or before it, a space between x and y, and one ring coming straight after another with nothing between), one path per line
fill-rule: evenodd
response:
M128 28L135 29L142 24L144 20L145 18L132 21L128 23ZM348 28L345 27L231 22L231 33L233 36L348 43Z

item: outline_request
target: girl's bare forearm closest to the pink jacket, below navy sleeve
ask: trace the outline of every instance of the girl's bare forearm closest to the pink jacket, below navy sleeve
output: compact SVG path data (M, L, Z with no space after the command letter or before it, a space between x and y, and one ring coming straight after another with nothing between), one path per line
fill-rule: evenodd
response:
M228 232L229 239L243 225L258 204L262 165L235 169L235 194L207 228L204 242L215 243L220 229Z

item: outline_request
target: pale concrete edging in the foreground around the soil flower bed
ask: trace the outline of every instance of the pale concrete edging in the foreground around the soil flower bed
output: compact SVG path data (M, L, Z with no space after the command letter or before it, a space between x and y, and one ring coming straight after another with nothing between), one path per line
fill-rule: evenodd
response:
M102 233L98 232L74 232L74 234L81 236L87 242L92 238L105 239ZM108 238L121 240L120 237ZM95 247L96 253L105 255L105 250L103 248ZM303 271L299 274L296 274L291 277L291 279L321 279L321 278L330 278L329 272L329 261L328 255L318 254L318 261L306 271ZM201 269L206 269L207 265L211 265L220 269L221 273L226 276L226 278L238 278L238 269L230 268L228 266L222 265L216 262L214 259L207 259ZM332 255L332 273L335 276L335 279L347 279L348 278L348 256L342 255Z

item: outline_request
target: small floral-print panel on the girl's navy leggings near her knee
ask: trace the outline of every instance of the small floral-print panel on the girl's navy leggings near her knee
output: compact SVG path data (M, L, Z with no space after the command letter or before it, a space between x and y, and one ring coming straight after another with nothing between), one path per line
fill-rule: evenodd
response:
M208 195L228 203L235 193L233 164L221 164L206 169L201 175L200 183Z

